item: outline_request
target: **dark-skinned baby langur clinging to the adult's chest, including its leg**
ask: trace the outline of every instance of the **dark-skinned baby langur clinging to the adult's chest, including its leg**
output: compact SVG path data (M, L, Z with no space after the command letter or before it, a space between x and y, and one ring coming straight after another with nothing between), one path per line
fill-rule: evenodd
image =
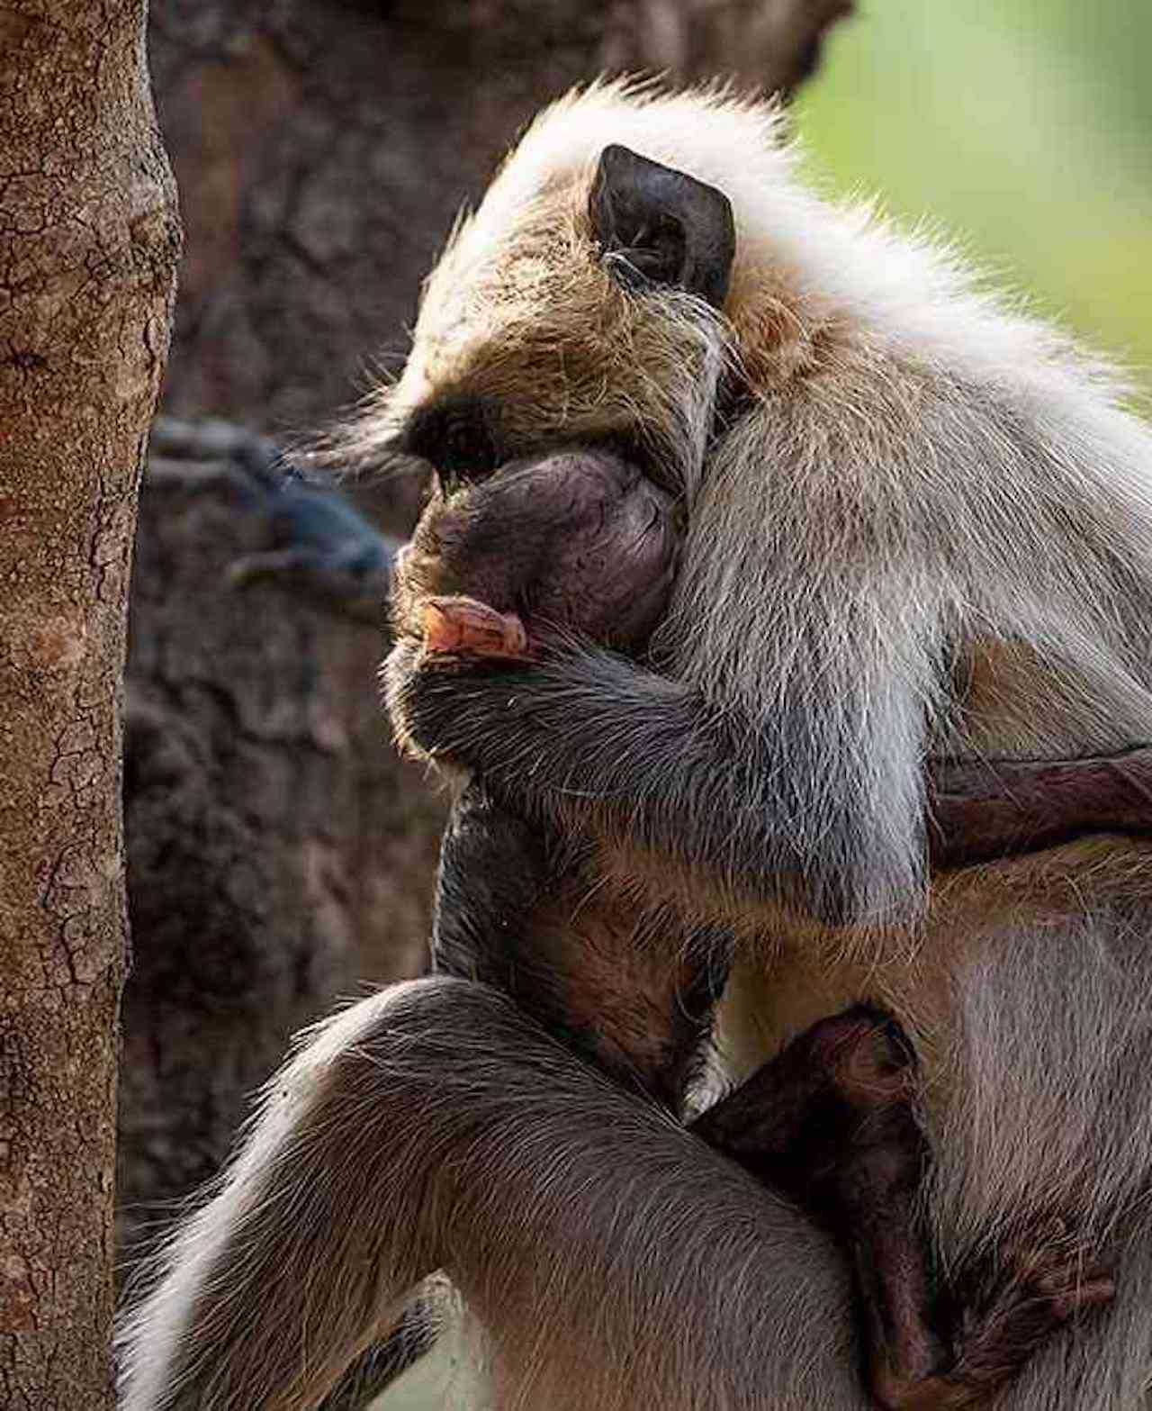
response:
M433 498L398 566L398 635L494 669L572 634L643 658L680 539L668 495L609 450L517 461ZM1052 790L1042 811L1052 825ZM979 830L980 847L1008 851L1019 824L998 841ZM437 968L509 992L611 1077L682 1115L730 943L680 923L671 948L654 927L674 928L675 917L649 916L644 931L636 913L589 858L486 797L482 780L468 785L444 841ZM915 1079L900 1026L857 1006L795 1038L694 1130L843 1247L877 1398L962 1407L1074 1311L1107 1302L1113 1285L1096 1277L1073 1292L1060 1259L1038 1243L1032 1267L991 1307L949 1307L915 1213L929 1158Z

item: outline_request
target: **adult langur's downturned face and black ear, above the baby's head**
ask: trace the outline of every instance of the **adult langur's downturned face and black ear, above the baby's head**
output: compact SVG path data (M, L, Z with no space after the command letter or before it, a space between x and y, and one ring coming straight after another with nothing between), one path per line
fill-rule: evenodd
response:
M557 444L611 440L691 490L733 251L721 192L623 147L516 205L498 181L427 282L384 402L392 449L451 490Z

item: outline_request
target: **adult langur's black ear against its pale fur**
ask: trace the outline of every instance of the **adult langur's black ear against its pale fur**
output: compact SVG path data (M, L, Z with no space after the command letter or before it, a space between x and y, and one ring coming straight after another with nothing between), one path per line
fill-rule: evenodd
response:
M605 147L589 199L612 272L632 288L671 285L721 308L736 227L722 190L626 147Z

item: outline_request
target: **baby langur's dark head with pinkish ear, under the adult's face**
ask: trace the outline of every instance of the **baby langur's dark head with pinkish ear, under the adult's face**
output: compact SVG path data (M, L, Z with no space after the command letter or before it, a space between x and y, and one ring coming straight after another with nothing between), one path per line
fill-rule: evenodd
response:
M437 490L396 564L396 635L516 658L563 631L635 653L664 614L678 545L671 497L625 457L512 461Z

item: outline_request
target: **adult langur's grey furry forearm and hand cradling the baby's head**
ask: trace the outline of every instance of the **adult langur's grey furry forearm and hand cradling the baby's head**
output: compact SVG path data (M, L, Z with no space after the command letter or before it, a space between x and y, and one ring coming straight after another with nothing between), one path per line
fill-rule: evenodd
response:
M752 731L611 652L568 646L519 667L402 643L385 689L402 739L561 828L627 837L742 885L780 851L773 761Z

